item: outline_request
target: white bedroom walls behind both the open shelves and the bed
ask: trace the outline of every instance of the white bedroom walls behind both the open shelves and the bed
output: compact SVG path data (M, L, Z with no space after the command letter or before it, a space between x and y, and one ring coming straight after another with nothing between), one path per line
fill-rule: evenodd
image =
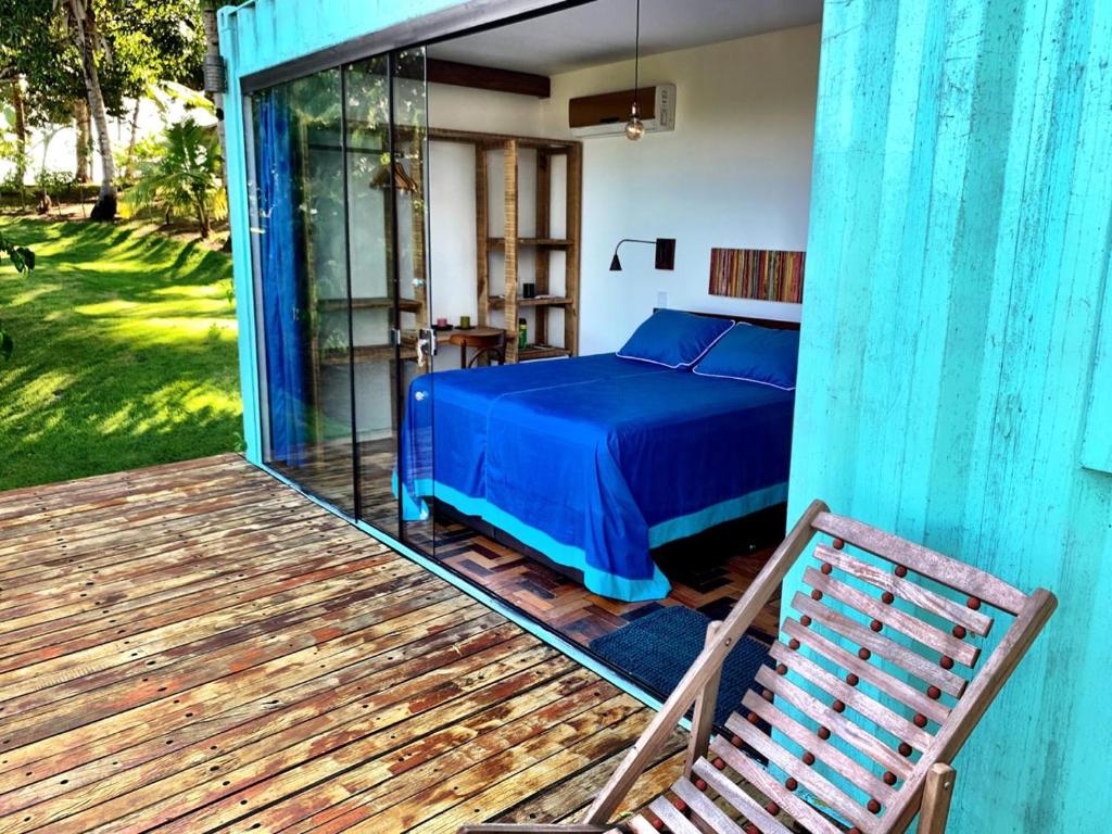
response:
M615 350L662 305L800 318L800 305L711 296L707 282L713 247L806 246L818 49L820 27L810 26L642 59L643 85L676 85L676 129L636 143L620 136L584 141L580 353ZM633 62L552 80L547 100L431 85L429 123L569 137L568 99L632 87ZM530 170L523 166L525 206ZM433 315L474 318L470 146L434 142L429 172ZM494 176L490 190L499 195ZM523 212L523 234L530 216ZM500 206L492 205L492 218L500 224ZM618 240L655 237L676 238L675 271L654 269L652 247L638 245L623 247L622 272L608 270ZM562 271L554 264L554 276ZM456 363L454 349L441 350L440 367Z

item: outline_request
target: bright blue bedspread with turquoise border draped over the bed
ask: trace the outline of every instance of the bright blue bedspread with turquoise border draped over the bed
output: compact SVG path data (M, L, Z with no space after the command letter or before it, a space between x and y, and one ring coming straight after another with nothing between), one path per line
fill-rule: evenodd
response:
M418 377L404 513L426 516L435 495L597 594L657 599L669 585L651 548L785 500L793 399L613 354Z

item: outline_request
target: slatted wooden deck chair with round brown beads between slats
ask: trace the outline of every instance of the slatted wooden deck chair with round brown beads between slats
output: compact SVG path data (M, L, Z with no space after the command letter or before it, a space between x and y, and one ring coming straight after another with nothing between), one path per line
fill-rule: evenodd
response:
M776 668L756 677L712 737L722 664L812 538L808 594L790 600ZM945 588L957 592L953 594ZM468 834L890 834L921 813L920 834L945 830L950 766L1030 648L1058 600L815 502L629 749L580 824L473 825ZM995 610L992 610L995 609ZM1000 614L995 647L981 648ZM608 821L694 706L684 775L637 816ZM765 728L772 727L773 734ZM767 766L761 761L767 762Z

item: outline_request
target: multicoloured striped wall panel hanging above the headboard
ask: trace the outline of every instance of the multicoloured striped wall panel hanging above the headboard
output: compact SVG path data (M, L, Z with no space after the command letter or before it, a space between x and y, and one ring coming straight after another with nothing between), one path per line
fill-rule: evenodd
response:
M778 249L712 249L712 296L803 302L806 252Z

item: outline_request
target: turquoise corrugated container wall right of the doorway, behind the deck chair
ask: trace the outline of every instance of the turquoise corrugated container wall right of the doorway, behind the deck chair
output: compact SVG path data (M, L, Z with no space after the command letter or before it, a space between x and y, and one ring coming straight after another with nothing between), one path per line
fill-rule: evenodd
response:
M1112 477L1082 444L1112 431L1112 3L830 0L822 48L793 516L821 497L1059 595L951 830L1104 831Z

